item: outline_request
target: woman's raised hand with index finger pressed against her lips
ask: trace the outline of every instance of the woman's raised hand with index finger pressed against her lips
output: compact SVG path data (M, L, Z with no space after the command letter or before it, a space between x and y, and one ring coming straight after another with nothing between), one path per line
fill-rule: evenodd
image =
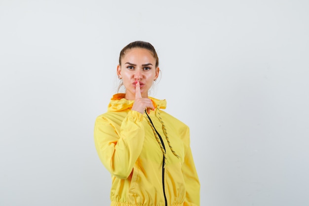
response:
M143 114L146 109L149 114L150 110L154 110L154 105L151 99L142 98L140 82L137 81L135 84L135 101L132 110Z

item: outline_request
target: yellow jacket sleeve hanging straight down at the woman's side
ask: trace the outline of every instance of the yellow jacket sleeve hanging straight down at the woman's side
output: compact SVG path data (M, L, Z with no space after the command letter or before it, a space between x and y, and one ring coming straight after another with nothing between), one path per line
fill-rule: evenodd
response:
M187 139L187 141L189 147L182 165L182 173L186 183L186 199L184 206L200 206L200 183L193 161L190 139Z

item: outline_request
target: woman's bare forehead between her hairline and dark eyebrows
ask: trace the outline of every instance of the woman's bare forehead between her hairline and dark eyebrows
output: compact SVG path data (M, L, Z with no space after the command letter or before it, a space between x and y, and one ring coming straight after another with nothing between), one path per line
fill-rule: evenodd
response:
M151 51L145 48L131 48L124 53L122 58L125 62L137 61L137 62L155 62L154 55ZM124 63L125 63L124 62Z

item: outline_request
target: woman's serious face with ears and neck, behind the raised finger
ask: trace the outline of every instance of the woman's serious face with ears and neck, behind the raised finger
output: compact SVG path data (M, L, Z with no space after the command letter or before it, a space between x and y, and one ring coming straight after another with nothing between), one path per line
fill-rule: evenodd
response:
M140 82L141 95L148 97L148 90L157 79L159 68L155 68L153 54L144 48L132 48L125 52L121 65L117 66L117 75L122 78L126 88L125 98L135 99L135 81Z

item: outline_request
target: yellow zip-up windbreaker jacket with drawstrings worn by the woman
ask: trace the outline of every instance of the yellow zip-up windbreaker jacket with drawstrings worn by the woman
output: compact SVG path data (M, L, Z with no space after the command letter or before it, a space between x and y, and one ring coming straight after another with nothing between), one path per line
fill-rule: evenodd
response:
M165 100L149 98L148 115L115 94L95 121L96 150L112 174L111 206L199 206L189 127L160 110Z

